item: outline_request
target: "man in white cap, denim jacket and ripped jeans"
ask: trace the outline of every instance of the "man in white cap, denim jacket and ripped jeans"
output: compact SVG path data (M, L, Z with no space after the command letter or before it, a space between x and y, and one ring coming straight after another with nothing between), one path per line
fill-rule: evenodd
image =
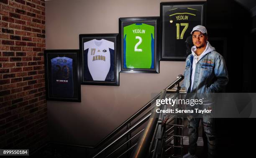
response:
M207 41L207 30L202 25L193 28L192 41L195 46L191 48L192 54L186 59L183 87L187 92L207 94L222 92L228 83L228 71L223 56ZM188 117L189 153L183 158L197 158L195 155L198 139L198 126L200 118L191 115ZM216 135L213 127L213 118L202 117L202 124L207 136L208 158L216 155Z

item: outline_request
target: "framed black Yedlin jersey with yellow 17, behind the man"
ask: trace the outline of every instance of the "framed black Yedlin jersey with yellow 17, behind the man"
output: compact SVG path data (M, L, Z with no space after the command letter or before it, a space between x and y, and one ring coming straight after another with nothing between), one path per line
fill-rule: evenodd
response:
M185 61L193 46L191 31L205 24L206 2L160 3L161 61Z

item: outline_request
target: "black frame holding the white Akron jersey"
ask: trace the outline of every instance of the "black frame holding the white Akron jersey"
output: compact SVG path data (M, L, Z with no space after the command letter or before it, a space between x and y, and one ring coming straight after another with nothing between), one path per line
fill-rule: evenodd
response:
M119 86L118 33L80 34L79 51L81 84Z

